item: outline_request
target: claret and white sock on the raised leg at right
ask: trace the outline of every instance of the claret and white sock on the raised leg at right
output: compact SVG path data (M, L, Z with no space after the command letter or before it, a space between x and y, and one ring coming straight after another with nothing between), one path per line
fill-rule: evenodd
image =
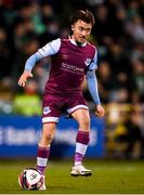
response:
M82 162L90 140L90 132L79 130L76 138L75 165Z

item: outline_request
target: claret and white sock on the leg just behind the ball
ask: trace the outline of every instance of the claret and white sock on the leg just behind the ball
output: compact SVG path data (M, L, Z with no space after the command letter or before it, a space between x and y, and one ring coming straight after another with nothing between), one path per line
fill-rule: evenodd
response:
M50 147L41 147L38 146L37 153L37 169L44 174L44 170L47 168L47 161L50 155Z

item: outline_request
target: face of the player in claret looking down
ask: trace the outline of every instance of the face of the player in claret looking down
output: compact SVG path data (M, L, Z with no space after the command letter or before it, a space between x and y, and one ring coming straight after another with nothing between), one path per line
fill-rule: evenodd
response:
M91 29L92 24L79 20L77 23L71 25L73 38L76 42L84 43L91 32Z

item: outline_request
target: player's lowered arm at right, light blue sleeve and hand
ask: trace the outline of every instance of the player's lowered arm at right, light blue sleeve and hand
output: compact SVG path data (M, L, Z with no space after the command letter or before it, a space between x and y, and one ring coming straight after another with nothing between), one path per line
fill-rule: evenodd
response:
M95 52L94 58L90 64L89 69L87 70L86 78L87 78L88 89L95 104L94 113L96 116L103 117L105 112L101 104L101 100L99 95L97 79L95 76L95 69L97 68L96 62L97 62L97 53Z

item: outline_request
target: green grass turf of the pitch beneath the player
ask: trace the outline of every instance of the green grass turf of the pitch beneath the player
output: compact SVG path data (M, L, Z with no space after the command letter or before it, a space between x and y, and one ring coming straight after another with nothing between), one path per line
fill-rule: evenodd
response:
M0 194L142 194L144 193L144 161L90 160L89 178L71 178L71 161L56 160L47 170L47 191L24 191L17 182L18 173L35 161L0 161Z

